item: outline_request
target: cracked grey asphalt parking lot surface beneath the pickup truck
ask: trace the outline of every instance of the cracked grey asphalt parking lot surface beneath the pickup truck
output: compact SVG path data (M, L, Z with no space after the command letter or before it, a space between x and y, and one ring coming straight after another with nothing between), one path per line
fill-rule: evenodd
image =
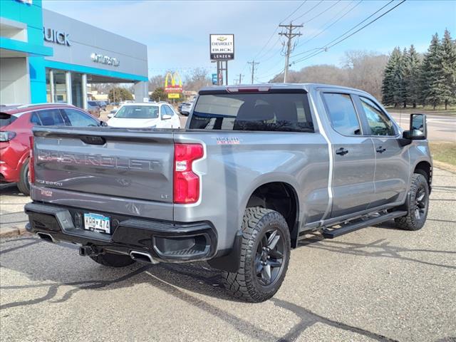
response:
M1 224L28 198L1 188ZM456 341L456 174L435 170L427 223L309 235L278 294L229 297L205 263L109 269L31 235L0 242L1 341Z

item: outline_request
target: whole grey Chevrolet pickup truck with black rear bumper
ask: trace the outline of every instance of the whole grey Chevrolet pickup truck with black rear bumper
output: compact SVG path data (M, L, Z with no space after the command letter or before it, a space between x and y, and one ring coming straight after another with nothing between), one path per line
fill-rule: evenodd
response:
M106 266L206 260L264 301L306 232L423 227L432 160L410 122L361 90L266 84L200 90L183 130L36 127L27 229Z

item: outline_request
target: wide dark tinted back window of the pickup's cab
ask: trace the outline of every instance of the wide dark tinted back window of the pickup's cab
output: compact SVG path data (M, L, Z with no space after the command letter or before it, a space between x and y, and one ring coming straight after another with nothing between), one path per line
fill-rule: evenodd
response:
M314 132L305 93L202 94L190 128Z

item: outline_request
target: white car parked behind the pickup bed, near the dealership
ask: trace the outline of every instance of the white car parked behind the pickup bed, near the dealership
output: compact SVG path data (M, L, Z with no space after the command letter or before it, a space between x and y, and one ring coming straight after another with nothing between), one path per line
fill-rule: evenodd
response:
M110 127L180 128L179 115L167 103L125 103L108 118Z

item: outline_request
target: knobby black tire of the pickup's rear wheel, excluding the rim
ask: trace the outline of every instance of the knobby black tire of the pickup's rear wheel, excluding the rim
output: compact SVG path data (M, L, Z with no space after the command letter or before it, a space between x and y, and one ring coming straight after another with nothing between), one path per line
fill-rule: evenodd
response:
M260 240L271 228L279 229L284 237L283 268L276 281L263 286L257 279L254 265ZM286 274L290 259L290 233L284 217L271 209L262 207L247 208L242 220L242 244L239 269L237 272L224 271L224 286L235 297L258 303L270 299L279 290Z

